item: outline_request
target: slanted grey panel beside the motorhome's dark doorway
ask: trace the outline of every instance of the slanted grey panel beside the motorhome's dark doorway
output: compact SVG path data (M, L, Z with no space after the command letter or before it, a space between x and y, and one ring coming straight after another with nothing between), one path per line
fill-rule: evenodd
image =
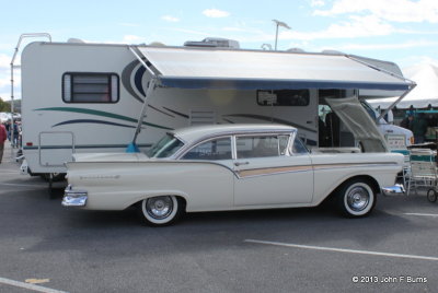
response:
M325 101L351 131L364 152L388 152L385 139L356 96Z

